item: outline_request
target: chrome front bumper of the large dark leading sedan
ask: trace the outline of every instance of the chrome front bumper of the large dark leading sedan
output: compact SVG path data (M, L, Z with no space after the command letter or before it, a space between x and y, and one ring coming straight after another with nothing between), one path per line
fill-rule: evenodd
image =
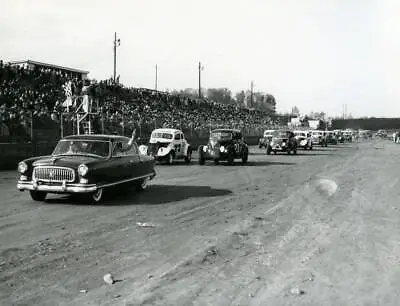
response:
M91 193L97 190L95 184L47 184L46 182L21 181L17 183L19 191L34 190L49 193Z

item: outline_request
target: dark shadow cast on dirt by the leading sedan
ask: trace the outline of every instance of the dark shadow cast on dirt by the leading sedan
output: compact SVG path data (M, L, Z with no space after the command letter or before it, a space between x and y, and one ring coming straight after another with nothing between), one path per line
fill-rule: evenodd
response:
M191 198L218 197L231 194L228 189L217 189L210 186L185 186L185 185L149 185L148 188L139 192L135 188L128 186L126 188L118 187L108 189L104 192L103 202L100 205L152 205L165 204L177 201L183 201ZM85 197L61 196L49 198L45 201L48 204L72 204L88 205L89 200Z

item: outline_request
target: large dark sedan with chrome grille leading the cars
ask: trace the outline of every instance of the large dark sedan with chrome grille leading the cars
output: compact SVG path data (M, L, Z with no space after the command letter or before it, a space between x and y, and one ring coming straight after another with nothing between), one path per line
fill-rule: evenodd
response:
M128 183L144 190L156 175L154 159L139 154L134 137L74 135L61 139L49 156L18 164L17 189L35 201L48 193L84 194L100 202L105 188Z

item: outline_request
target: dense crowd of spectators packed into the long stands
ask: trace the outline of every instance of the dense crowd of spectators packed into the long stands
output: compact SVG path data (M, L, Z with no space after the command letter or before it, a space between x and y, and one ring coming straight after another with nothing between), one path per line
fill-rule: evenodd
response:
M10 131L16 126L29 129L31 118L43 122L60 119L65 112L63 85L72 81L72 94L81 95L89 86L93 105L99 106L103 122L114 125L140 124L152 128L209 130L232 127L246 130L272 127L271 116L232 104L192 99L143 88L128 88L111 80L83 84L57 69L25 69L0 62L0 124ZM64 105L63 105L64 104ZM78 105L75 105L77 107ZM73 111L72 107L69 111ZM67 117L68 118L68 117ZM70 116L67 120L74 120ZM110 132L110 131L109 131Z

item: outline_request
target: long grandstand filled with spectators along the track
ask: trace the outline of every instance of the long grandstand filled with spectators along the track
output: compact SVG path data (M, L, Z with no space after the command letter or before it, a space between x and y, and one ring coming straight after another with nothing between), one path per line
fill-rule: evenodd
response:
M240 128L246 135L259 135L276 125L265 111L125 87L111 80L90 82L85 79L86 71L70 69L68 73L65 69L69 68L27 63L38 62L0 63L0 131L7 131L11 138L39 138L37 135L42 134L42 138L48 135L47 138L56 139L76 133L80 103L74 103L67 111L67 82L72 96L87 95L91 105L99 106L92 122L95 133L129 135L136 127L141 135L148 135L154 128L175 127L195 136L206 135L213 128L229 127ZM73 76L72 72L81 76ZM43 132L37 133L40 130ZM7 136L4 134L3 138Z

